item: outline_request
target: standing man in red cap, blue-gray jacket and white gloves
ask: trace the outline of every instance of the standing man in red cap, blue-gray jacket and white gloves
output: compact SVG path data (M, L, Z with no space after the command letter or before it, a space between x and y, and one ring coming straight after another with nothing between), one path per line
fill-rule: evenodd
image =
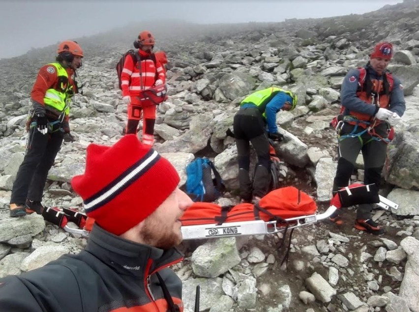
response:
M363 68L352 69L345 76L340 91L343 123L338 129L338 156L333 195L348 186L355 161L362 151L364 184L379 184L387 156L389 132L400 122L406 109L403 86L387 66L393 56L393 46L380 42ZM384 229L371 219L371 204L358 206L355 228L380 235ZM339 215L330 218L342 224Z

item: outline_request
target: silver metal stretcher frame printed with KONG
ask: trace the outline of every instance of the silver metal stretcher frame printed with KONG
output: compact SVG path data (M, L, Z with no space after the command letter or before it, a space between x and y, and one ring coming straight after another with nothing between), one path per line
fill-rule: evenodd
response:
M390 208L397 210L398 204L392 202L379 195L380 202L378 206L384 210ZM304 225L316 223L318 221L329 218L338 208L331 205L329 208L321 214L306 215L294 218L284 219L283 222L278 224L278 221L264 221L264 220L252 220L252 221L238 221L238 222L225 222L222 224L199 224L199 225L185 225L180 228L184 240L192 239L209 239L215 237L232 237L242 235L265 235L275 234L283 232L286 229L293 229ZM280 217L280 216L279 216ZM288 225L288 226L287 226ZM65 225L63 229L69 233L79 234L84 237L89 237L89 231L85 229L71 228Z

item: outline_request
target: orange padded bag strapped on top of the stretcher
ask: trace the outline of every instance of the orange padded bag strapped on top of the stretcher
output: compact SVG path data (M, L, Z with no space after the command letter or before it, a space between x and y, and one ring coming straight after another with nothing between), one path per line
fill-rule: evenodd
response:
M295 187L272 190L261 199L259 206L263 209L258 209L258 205L244 203L223 213L223 208L217 204L195 202L185 211L180 221L182 226L251 221L258 218L270 221L274 219L272 215L283 219L294 218L312 215L317 210L313 198Z

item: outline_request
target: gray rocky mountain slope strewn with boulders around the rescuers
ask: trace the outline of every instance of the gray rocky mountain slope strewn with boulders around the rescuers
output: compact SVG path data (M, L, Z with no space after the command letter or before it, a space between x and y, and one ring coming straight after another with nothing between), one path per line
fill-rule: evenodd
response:
M400 208L377 209L373 216L386 226L385 235L355 230L354 208L345 209L341 227L318 222L294 232L288 269L280 267L281 235L185 241L180 246L185 261L175 267L184 281L185 311L193 311L199 284L201 311L418 312L419 2L405 0L339 18L175 26L151 29L156 48L167 51L170 61L169 99L158 113L155 149L175 164L181 186L194 157L213 159L228 188L220 205L239 200L236 147L225 131L232 127L240 100L251 91L277 85L298 94L297 109L277 115L285 140L275 149L288 169L281 185L309 193L319 212L329 206L336 168L337 139L329 121L339 111L342 79L367 61L379 40L394 43L389 69L403 82L407 106L389 144L381 186L381 194ZM90 142L112 144L122 134L126 107L115 64L142 28L78 39L86 57L79 70L84 94L71 107L76 141L64 143L57 156L45 205L82 210L69 181L83 172ZM0 61L0 276L40 267L86 245L86 239L45 224L39 216L10 219L7 211L24 155L30 90L38 68L53 61L54 52L50 46ZM363 177L361 159L354 181Z

